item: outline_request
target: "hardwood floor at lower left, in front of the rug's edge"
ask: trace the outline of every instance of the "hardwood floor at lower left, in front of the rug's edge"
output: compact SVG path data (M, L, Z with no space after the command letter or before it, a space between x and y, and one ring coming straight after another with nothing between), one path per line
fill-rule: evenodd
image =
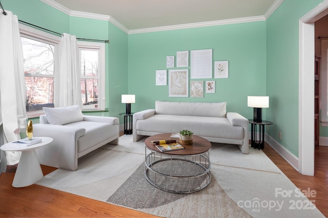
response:
M56 168L42 165L44 175ZM0 217L157 217L40 185L14 188L0 175Z

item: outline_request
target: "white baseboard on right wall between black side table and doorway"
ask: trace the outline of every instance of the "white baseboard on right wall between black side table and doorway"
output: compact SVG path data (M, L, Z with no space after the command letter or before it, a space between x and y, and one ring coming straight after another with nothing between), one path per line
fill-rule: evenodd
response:
M265 141L270 144L270 146L283 158L285 159L291 166L293 166L298 172L298 157L288 151L285 147L283 147L278 141L272 138L270 135L265 133ZM265 148L264 148L265 149Z

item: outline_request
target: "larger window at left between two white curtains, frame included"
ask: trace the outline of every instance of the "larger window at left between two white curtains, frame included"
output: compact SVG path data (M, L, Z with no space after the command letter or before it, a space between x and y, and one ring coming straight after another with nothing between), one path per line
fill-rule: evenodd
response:
M43 107L57 101L58 43L60 37L19 24L24 56L26 111L43 114Z

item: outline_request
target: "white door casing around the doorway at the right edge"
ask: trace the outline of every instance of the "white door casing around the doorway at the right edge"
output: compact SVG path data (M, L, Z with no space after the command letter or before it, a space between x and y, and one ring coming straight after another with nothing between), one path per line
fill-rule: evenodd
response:
M299 172L314 176L314 22L328 14L324 1L299 19ZM313 90L309 94L310 90ZM312 105L313 107L309 107ZM313 134L309 134L313 133Z

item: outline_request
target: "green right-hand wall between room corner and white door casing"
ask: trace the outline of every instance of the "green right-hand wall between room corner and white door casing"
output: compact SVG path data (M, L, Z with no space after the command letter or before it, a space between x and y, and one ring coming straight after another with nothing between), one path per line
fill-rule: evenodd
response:
M273 122L267 132L297 157L299 19L321 2L285 0L267 19L267 119Z

